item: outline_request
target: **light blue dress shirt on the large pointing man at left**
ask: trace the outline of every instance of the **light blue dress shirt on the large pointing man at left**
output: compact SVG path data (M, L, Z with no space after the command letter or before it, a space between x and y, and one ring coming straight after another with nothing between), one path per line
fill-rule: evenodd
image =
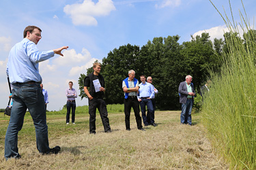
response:
M40 52L33 41L24 38L10 50L6 69L10 83L42 82L38 63L53 56L53 50Z

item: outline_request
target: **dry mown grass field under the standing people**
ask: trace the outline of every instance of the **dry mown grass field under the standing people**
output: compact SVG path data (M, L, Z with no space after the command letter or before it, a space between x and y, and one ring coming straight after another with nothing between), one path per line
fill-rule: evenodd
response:
M57 113L57 112L56 112ZM193 126L180 125L180 111L156 112L157 126L137 130L131 114L131 131L125 130L124 112L109 113L112 133L104 133L100 115L96 135L89 134L88 112L76 114L76 124L66 124L65 114L47 115L50 147L57 155L41 155L35 146L31 116L26 114L18 134L22 158L5 161L4 139L8 116L0 114L0 169L229 169L205 137L201 114Z

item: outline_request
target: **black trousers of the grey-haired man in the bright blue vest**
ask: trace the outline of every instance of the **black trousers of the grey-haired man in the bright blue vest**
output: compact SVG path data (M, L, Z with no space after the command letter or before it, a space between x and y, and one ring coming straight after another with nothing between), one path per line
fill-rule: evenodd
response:
M124 114L126 121L126 129L130 129L130 109L134 110L134 115L137 122L138 129L142 128L141 116L139 115L139 101L137 97L124 99Z

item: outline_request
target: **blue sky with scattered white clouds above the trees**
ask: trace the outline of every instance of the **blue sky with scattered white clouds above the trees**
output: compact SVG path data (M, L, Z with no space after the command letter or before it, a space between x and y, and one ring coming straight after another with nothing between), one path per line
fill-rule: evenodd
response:
M221 13L224 7L230 17L228 0L212 2ZM253 28L255 0L243 3ZM231 7L239 23L239 10L244 11L241 1L231 0ZM8 103L5 68L10 48L23 39L28 25L42 29L39 50L69 46L63 57L55 55L40 63L49 110L61 109L66 104L68 82L73 81L78 91L80 73L86 73L96 59L101 61L114 48L126 44L141 47L154 37L168 35L180 35L182 44L203 31L209 32L211 39L221 38L227 31L208 0L1 0L0 13L0 108ZM87 99L79 97L76 105L87 105Z

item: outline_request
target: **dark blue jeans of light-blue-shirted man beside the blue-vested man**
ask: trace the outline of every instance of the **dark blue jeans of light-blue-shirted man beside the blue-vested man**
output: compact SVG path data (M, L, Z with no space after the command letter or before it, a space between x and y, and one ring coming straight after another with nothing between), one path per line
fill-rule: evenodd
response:
M139 105L141 105L141 114L142 114L143 123L145 125L154 123L154 119L152 117L152 114L154 112L152 100L141 99L141 101L139 102ZM146 109L145 109L146 105L147 105L147 116L146 116Z

